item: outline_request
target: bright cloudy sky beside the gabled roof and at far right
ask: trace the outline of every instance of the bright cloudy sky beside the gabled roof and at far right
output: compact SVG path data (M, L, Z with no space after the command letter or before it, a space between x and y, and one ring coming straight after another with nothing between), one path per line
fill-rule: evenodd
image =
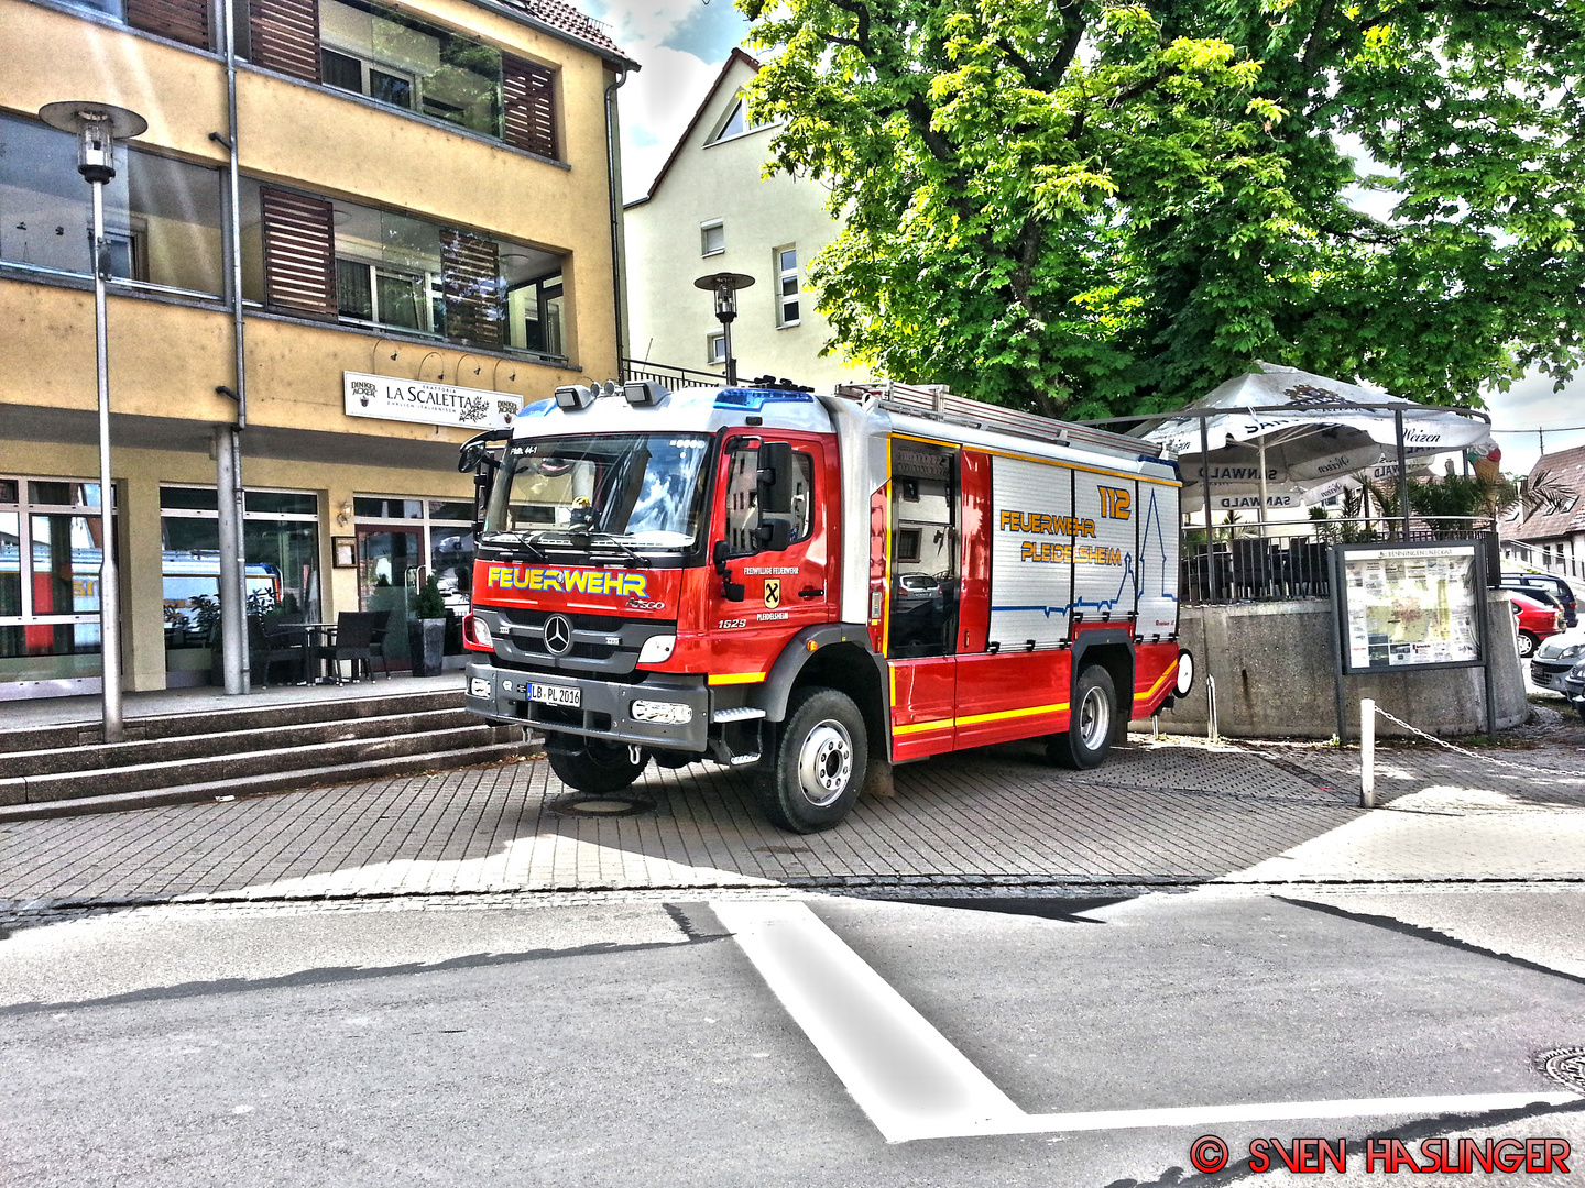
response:
M610 24L617 44L644 67L621 89L623 188L639 198L748 22L731 0L583 0L583 8ZM1507 470L1536 461L1537 429L1549 453L1585 445L1585 377L1553 393L1550 377L1531 375L1491 393L1488 407Z

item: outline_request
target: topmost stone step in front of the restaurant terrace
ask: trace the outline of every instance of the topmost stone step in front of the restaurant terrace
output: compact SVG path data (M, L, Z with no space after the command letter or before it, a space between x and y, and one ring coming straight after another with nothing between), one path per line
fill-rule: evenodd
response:
M266 727L304 725L309 722L350 721L353 718L382 718L398 713L423 713L426 710L455 710L463 705L463 691L450 687L434 692L355 694L350 697L268 705L247 705L244 699L239 699L239 702L244 703L236 708L128 718L125 738L127 741L146 741L181 735L212 735L228 730L262 730ZM19 751L59 751L71 746L95 746L101 743L101 738L100 722L0 730L0 757Z

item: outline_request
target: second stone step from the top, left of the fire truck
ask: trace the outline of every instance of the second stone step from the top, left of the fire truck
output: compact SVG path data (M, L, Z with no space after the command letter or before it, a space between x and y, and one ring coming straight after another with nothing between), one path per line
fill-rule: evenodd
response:
M477 725L479 722L477 716L456 706L380 714L379 718L346 718L328 722L255 725L246 730L222 730L219 733L170 735L128 743L60 746L48 751L21 751L0 757L0 778L100 771L105 768L170 763L181 759L281 751L287 748L320 746L323 743L344 743L355 738L426 733L431 730Z

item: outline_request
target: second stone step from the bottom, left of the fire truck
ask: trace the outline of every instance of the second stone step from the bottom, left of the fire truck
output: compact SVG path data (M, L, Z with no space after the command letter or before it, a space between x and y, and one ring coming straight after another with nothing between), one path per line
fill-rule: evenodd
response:
M173 759L154 763L98 768L94 771L59 771L36 776L0 779L0 805L29 805L51 800L78 800L120 792L144 792L214 781L263 779L309 768L350 768L391 757L420 757L444 751L466 751L506 743L510 735L521 738L520 727L495 727L476 722L442 730L399 733L380 738L352 738L285 746L239 754ZM518 741L518 746L521 743ZM360 778L353 775L352 778ZM284 784L271 782L271 787ZM288 784L285 784L288 786Z

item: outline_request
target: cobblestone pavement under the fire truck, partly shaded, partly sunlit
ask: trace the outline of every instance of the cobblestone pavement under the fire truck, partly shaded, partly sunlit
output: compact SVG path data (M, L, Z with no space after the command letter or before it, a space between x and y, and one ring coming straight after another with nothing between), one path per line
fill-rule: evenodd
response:
M1135 738L1097 771L994 748L897 768L812 836L743 773L650 767L650 808L586 816L548 763L0 825L0 917L68 904L720 887L1585 879L1585 752L1501 768L1320 746ZM607 805L610 806L610 805Z

